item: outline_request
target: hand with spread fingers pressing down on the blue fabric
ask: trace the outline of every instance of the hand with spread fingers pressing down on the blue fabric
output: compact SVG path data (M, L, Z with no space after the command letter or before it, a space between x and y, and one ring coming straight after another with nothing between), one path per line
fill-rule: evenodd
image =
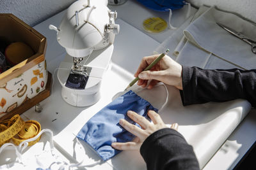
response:
M122 125L124 129L134 134L136 138L131 142L112 143L111 146L117 150L140 150L140 146L142 145L143 141L145 141L150 134L158 131L159 129L167 127L161 117L152 110L148 111L148 117L151 118L153 124L145 117L138 115L138 113L134 111L127 111L127 115L129 118L134 120L134 122L138 123L142 129L136 125L130 124L124 119L120 119L119 124ZM171 128L177 131L178 124L172 124Z

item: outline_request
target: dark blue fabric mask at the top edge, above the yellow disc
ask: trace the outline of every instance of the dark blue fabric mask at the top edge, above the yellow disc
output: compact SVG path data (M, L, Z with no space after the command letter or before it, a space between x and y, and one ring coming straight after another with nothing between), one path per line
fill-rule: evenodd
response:
M182 8L186 1L183 0L137 0L141 4L155 11L169 11Z

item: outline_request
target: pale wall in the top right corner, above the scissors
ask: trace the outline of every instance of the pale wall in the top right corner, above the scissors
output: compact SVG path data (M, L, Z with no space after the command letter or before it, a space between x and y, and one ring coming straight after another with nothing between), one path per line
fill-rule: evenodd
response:
M238 13L256 23L256 0L188 0L188 2L195 6L215 5L221 10Z

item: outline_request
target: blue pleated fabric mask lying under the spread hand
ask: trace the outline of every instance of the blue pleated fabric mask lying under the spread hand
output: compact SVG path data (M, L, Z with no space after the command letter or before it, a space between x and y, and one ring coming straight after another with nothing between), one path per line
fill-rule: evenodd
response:
M120 124L120 118L124 118L131 124L136 124L127 116L127 111L132 110L147 118L148 110L158 111L148 101L130 90L123 96L117 97L114 101L96 113L77 134L77 138L88 143L98 153L102 160L108 160L120 153L111 147L113 142L127 142L135 138L133 134L126 131Z

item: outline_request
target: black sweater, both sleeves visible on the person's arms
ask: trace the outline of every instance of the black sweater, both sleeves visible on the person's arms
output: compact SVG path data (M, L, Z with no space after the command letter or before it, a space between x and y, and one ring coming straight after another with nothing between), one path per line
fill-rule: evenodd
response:
M256 69L207 70L183 66L182 86L184 106L239 98L256 106ZM192 146L173 129L161 129L148 136L140 153L147 169L199 169Z

